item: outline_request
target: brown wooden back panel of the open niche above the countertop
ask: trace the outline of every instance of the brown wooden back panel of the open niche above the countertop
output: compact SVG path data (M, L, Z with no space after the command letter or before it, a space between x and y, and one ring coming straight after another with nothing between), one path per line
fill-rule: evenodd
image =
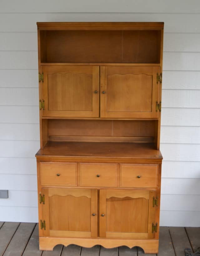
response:
M48 120L49 141L152 142L154 137L154 120Z

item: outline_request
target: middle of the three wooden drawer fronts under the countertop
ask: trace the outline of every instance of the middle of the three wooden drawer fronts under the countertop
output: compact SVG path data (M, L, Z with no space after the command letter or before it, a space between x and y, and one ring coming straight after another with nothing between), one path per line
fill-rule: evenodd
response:
M117 163L80 163L80 186L117 187L117 185Z

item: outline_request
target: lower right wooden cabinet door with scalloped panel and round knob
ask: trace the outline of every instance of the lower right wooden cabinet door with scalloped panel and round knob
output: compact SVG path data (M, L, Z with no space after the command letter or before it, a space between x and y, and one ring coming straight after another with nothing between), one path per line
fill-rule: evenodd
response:
M107 238L154 238L155 191L101 189L99 236ZM153 198L154 197L154 198ZM154 205L154 206L153 206Z

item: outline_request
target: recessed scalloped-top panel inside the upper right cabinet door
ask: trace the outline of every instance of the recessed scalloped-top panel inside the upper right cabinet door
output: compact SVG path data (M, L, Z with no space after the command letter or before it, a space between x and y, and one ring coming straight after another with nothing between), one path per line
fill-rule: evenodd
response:
M152 92L152 75L108 75L107 111L151 112Z

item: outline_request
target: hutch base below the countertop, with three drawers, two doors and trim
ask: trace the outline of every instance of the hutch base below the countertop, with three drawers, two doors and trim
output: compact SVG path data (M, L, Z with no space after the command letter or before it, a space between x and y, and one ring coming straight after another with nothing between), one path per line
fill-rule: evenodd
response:
M100 244L157 253L160 176L160 163L38 161L40 249Z

